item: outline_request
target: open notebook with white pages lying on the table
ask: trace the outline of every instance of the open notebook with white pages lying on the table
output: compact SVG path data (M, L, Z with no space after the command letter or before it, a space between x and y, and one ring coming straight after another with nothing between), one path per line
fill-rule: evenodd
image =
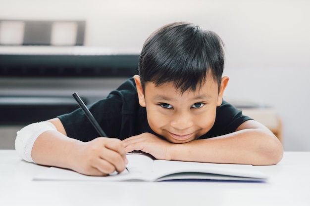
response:
M69 169L50 167L34 180L70 181L165 181L165 180L235 180L265 181L267 176L253 165L193 163L154 160L142 153L127 154L127 170L109 176L87 176Z

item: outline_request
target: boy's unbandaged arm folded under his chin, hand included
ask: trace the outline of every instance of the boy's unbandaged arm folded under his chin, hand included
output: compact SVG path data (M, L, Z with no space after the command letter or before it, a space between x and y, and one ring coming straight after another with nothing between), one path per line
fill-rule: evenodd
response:
M230 134L183 144L169 143L150 133L144 133L140 138L130 137L123 142L126 152L142 150L157 159L166 160L274 165L283 156L278 138L254 120L244 122Z

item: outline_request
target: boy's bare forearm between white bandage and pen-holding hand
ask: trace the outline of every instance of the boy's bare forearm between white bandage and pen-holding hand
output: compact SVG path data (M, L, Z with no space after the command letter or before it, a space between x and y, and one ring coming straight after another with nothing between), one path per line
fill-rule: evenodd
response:
M72 156L81 142L58 131L46 131L35 141L31 156L39 165L71 168Z

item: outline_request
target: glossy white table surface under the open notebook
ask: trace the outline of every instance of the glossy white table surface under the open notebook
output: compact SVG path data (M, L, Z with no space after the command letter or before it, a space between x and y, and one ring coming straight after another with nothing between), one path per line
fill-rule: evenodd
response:
M263 183L230 181L33 181L48 167L0 150L1 206L310 206L310 152L284 152L256 166Z

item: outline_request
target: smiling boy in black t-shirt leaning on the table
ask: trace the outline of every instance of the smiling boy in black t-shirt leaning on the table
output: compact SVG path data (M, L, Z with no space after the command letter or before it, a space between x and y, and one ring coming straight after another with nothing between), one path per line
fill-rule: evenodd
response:
M89 106L109 138L78 109L21 129L16 151L29 162L102 176L123 171L133 150L164 160L277 164L283 148L273 133L222 100L223 67L215 33L185 22L163 26L144 43L139 76Z

